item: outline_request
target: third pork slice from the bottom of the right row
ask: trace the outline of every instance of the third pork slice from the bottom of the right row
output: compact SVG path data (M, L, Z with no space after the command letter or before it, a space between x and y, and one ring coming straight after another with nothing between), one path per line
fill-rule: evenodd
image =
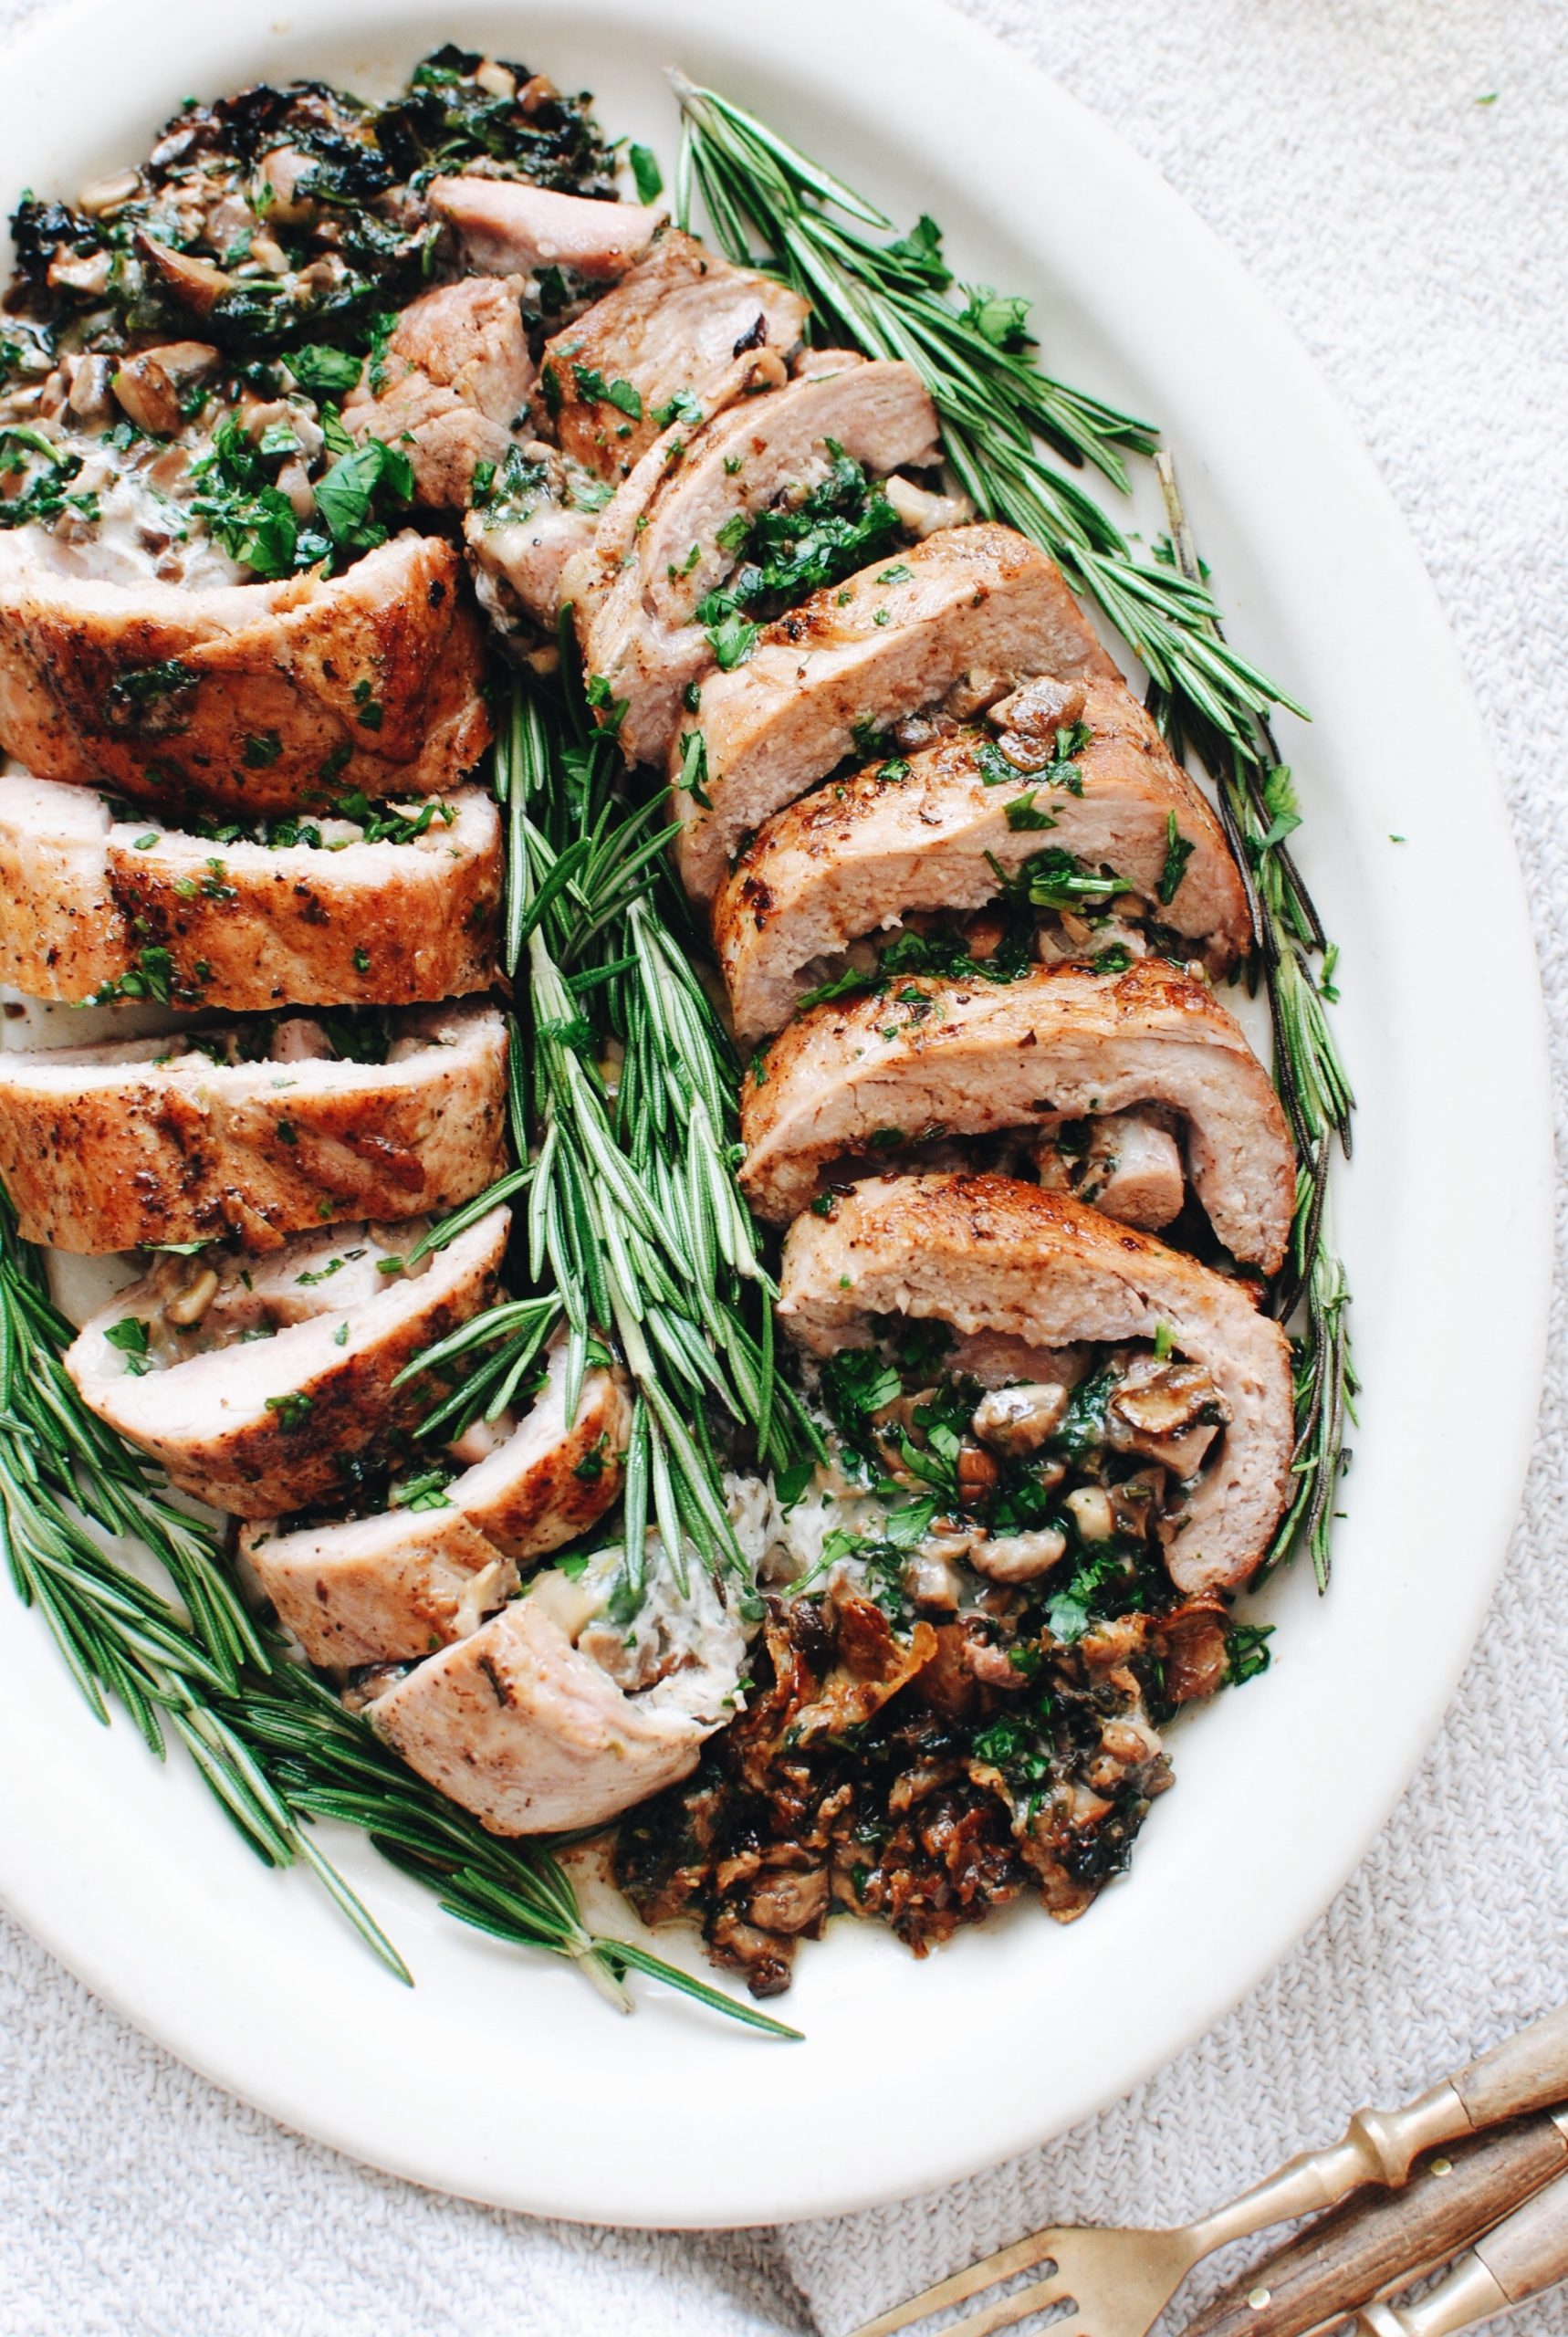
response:
M755 1045L780 1028L818 958L832 961L911 914L979 909L995 900L998 872L1017 874L1042 846L1115 869L1194 958L1227 972L1253 925L1220 823L1119 680L1084 685L1082 722L1089 743L1073 767L1077 795L1026 771L1014 783L1000 750L986 753L988 741L965 729L776 811L713 904L741 1040ZM988 785L998 769L1000 783ZM1024 797L1035 818L1054 823L1049 830L1007 823L1007 806ZM1192 853L1161 902L1171 818Z

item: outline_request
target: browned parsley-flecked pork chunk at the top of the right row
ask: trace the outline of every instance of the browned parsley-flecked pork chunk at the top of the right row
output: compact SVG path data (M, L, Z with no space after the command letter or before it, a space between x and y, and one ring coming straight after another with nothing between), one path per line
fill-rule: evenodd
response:
M668 229L544 346L540 388L561 451L601 479L629 477L678 418L664 409L682 390L706 400L745 353L778 360L783 383L804 323L797 292Z

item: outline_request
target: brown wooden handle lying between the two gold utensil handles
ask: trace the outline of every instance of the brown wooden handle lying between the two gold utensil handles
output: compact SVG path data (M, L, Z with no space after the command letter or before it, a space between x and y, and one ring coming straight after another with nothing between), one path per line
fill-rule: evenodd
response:
M1404 2190L1376 2190L1318 2215L1187 2323L1185 2337L1304 2337L1367 2297L1404 2288L1416 2269L1568 2173L1568 2113L1533 2117L1428 2157Z

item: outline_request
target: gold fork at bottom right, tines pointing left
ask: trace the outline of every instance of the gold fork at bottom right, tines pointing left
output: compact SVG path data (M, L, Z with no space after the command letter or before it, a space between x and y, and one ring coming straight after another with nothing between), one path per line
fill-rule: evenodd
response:
M998 2248L918 2297L867 2321L853 2337L893 2337L930 2314L1000 2288L1019 2272L1049 2265L1040 2281L993 2297L942 2330L942 2337L991 2337L1031 2314L1073 2307L1052 2337L1145 2337L1192 2267L1271 2222L1332 2206L1362 2183L1404 2183L1411 2162L1437 2143L1568 2099L1568 2005L1505 2038L1479 2061L1435 2085L1402 2110L1358 2110L1344 2141L1288 2159L1276 2173L1213 2215L1166 2232L1119 2232L1056 2225ZM1388 2337L1388 2332L1386 2332Z

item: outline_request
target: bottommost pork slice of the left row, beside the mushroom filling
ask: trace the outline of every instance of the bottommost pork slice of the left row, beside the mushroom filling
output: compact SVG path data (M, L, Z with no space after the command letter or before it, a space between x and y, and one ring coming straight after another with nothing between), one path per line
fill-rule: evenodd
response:
M603 1561L575 1582L537 1575L369 1706L409 1767L493 1835L603 1825L689 1776L734 1718L745 1641L701 1568L657 1631L647 1608L631 1634L605 1622L610 1580Z

